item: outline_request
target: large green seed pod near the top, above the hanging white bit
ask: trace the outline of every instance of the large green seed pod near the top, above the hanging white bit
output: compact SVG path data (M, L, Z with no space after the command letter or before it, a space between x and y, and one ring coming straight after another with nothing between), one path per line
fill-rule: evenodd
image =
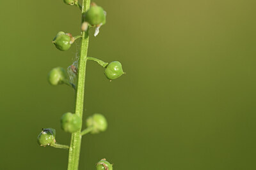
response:
M83 15L84 21L91 25L99 25L106 22L106 15L102 7L93 5Z

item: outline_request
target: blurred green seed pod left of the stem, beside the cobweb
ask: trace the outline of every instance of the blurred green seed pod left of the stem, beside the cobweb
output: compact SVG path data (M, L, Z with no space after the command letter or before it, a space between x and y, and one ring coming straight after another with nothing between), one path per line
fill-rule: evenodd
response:
M67 73L63 67L55 67L48 74L48 81L51 85L61 85L67 80Z

